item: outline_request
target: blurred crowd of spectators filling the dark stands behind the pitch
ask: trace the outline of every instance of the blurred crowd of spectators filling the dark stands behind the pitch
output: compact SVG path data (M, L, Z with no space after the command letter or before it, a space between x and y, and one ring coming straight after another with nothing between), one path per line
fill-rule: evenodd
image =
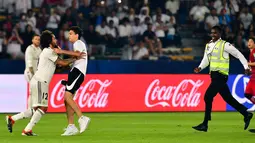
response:
M193 38L208 40L221 25L222 38L246 52L254 36L255 0L0 0L0 58L24 59L34 34L51 30L62 49L72 50L68 28L84 31L93 58L126 60L167 55L183 48L180 30L193 25Z

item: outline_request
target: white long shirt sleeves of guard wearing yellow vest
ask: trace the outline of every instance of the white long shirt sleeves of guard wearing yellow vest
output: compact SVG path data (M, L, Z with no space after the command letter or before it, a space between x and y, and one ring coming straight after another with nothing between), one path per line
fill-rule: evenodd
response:
M219 40L221 40L221 38ZM217 44L217 42L219 40L217 40L216 42L210 41L208 43L208 46L205 48L204 57L203 57L200 65L198 66L201 68L201 70L206 68L209 65L210 61L209 61L208 55L213 52L215 44ZM232 44L230 44L229 42L226 42L225 47L224 47L223 57L229 58L229 54L231 54L235 58L239 59L239 61L243 64L244 69L249 68L248 62L245 59L245 57L243 56L243 54L241 52L239 52Z

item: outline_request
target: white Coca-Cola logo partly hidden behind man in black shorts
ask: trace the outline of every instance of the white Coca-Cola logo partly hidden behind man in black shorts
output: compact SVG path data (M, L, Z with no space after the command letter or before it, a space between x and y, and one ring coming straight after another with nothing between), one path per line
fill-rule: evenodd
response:
M111 80L91 79L84 86L81 85L74 96L74 100L81 108L104 108L107 106L109 97L106 89L111 84ZM50 104L53 108L62 108L64 106L64 93L65 87L61 85L61 80L59 80L54 85L50 96Z

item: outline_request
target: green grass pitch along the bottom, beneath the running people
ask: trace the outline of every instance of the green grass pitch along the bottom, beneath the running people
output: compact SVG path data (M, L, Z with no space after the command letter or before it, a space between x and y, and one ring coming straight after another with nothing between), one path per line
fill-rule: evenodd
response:
M0 143L251 143L255 134L244 131L237 112L214 112L208 132L191 127L199 124L203 112L177 113L88 113L88 129L76 136L62 137L65 114L46 114L34 127L39 136L21 136L29 120L17 121L13 133L7 131L0 114ZM76 118L77 119L77 118ZM76 124L78 127L78 124ZM249 128L255 128L252 119Z

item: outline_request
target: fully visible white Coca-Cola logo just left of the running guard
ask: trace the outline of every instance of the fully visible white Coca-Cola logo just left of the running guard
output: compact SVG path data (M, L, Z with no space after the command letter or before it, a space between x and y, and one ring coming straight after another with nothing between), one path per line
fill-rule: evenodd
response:
M145 94L147 107L197 107L200 103L201 93L199 87L204 81L184 79L178 85L160 85L160 80L153 80Z

